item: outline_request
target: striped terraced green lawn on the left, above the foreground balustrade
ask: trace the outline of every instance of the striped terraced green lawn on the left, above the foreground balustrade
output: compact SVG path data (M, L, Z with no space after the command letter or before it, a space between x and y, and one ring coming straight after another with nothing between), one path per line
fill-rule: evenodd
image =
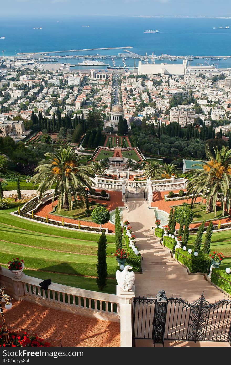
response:
M45 226L12 216L14 211L0 211L0 263L6 265L14 257L23 258L27 275L50 278L55 283L96 290L97 241L99 234ZM118 267L115 236L107 235L107 272L104 292L115 293Z

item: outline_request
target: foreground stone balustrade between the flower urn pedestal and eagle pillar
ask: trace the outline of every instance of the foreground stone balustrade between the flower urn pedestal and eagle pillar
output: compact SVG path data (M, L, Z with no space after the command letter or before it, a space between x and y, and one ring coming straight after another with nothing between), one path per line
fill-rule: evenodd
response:
M41 279L25 275L21 283L24 288L23 300L42 303L47 307L62 309L67 312L96 317L99 319L119 321L119 302L114 294L99 293L91 290L68 287L52 283L47 291L41 289Z

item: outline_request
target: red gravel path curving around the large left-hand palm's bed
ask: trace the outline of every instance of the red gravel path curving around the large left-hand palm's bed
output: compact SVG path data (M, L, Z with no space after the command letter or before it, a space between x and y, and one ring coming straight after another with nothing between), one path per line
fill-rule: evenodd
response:
M97 190L97 192L99 192L100 190ZM122 201L122 192L118 192L118 191L107 191L107 193L110 194L110 200L100 200L100 199L89 199L89 201L91 200L95 200L96 203L99 204L104 204L107 205L107 209L109 211L114 210L116 207L124 207L124 202ZM57 204L57 200L54 201L54 206ZM50 214L50 212L53 210L52 207L52 201L43 205L41 208L38 209L38 211L36 212L36 215L40 216L40 217L45 217L48 215L49 219L54 219L54 220L58 220L60 222L62 222L62 217ZM72 218L65 218L64 219L66 223L73 223L73 224L78 224L78 220L76 219L72 219ZM82 226L89 226L89 227L98 227L99 225L94 223L94 222L89 222L88 220L80 220L80 224ZM115 233L115 224L112 223L106 223L106 224L102 224L102 228L108 228L109 232Z

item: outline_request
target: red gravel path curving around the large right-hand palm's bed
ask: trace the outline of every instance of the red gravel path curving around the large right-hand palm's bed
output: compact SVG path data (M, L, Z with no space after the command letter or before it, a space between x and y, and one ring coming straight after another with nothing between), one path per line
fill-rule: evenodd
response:
M178 191L174 191L174 193L178 193ZM153 192L153 202L151 203L152 207L158 207L160 210L164 210L167 213L170 213L171 210L171 205L182 205L184 202L191 204L191 199L182 199L182 200L170 200L170 201L165 201L165 195L168 194L168 192L166 191L156 191ZM196 200L197 202L201 202L201 198L197 198ZM217 204L219 205L219 204ZM219 223L219 219L216 220L214 219L213 221L213 225L214 224L218 224ZM231 216L228 218L223 218L221 219L221 223L231 223ZM201 223L192 223L190 224L190 228L197 228L200 226ZM205 222L205 227L207 227L209 225L209 222ZM176 224L176 229L180 228L180 224Z

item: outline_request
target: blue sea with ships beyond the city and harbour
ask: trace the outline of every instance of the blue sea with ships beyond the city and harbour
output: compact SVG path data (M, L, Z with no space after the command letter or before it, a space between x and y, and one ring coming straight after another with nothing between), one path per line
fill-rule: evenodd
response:
M213 29L226 26L230 28ZM42 30L33 29L34 27L42 27ZM159 32L144 33L145 30L155 29ZM132 49L128 50L138 55L154 53L154 55L171 56L207 56L207 60L193 59L191 65L204 65L207 62L210 65L214 63L221 69L231 67L231 58L228 58L231 55L231 19L128 16L75 16L51 19L2 17L0 37L3 36L5 39L0 39L0 53L4 50L5 56L56 51L50 55L54 58L61 55L62 58L57 59L57 62L74 65L82 61L68 58L70 55L92 55L93 59L99 59L99 55L108 55L110 57L104 59L104 62L112 66L113 56L127 54L127 66L134 67L135 59L129 57L126 49L100 50L105 47L131 46ZM89 48L96 50L69 52L69 50ZM221 60L212 61L211 56L220 56ZM138 61L139 57L136 58L136 66ZM116 66L123 66L122 57L115 58L115 63ZM182 63L182 59L177 59L175 63ZM103 69L104 66L98 68Z

